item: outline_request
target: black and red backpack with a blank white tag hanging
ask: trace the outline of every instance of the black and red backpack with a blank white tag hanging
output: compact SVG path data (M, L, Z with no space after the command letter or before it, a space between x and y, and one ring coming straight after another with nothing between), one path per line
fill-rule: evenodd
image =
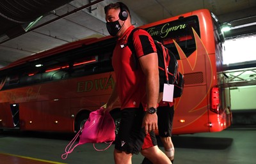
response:
M132 29L127 39L127 45L131 49L132 56L138 68L138 57L135 54L133 45L133 33L138 28ZM157 48L158 68L159 68L159 93L163 92L164 84L174 84L173 98L179 98L182 95L184 87L184 75L178 71L178 62L174 54L162 43L154 40Z

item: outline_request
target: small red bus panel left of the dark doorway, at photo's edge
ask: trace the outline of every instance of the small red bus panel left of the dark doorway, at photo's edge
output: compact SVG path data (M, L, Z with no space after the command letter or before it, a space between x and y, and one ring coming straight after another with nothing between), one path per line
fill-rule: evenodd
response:
M10 103L0 103L0 128L14 128Z

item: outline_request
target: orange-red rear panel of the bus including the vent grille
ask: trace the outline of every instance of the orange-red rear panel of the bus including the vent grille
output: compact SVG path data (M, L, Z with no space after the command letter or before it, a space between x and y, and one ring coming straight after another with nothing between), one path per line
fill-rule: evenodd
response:
M205 54L195 52L180 58L179 71L185 72L185 83L182 96L175 100L173 134L209 131Z

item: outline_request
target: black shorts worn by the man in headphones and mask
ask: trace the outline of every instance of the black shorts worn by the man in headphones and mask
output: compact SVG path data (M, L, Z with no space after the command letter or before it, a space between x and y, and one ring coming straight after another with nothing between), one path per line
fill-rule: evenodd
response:
M147 142L147 145L149 142L152 146L157 145L154 131L151 131L149 137L145 138L145 130L141 128L145 115L143 108L125 108L121 110L121 114L120 128L115 140L115 149L139 154L143 142Z

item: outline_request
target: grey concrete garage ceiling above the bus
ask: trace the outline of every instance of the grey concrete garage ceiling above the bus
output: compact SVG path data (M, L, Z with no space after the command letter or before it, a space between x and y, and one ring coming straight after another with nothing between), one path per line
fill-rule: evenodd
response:
M255 0L121 1L129 6L132 24L135 26L207 8L220 22L232 25L232 31L225 33L227 37L256 32L256 25L252 26L252 23L256 22ZM50 3L45 0L45 4L42 3L43 0L19 0L20 4L13 2L13 0L0 2L0 68L22 57L65 43L108 35L103 8L113 1L61 1L65 2L64 5L57 0L49 1ZM32 3L38 2L42 6L39 5L39 8L34 10L26 10L26 14L22 13L25 10L19 10L22 7L32 8ZM9 3L13 3L11 7ZM24 5L26 3L27 6ZM33 21L33 26L29 27L29 23Z

